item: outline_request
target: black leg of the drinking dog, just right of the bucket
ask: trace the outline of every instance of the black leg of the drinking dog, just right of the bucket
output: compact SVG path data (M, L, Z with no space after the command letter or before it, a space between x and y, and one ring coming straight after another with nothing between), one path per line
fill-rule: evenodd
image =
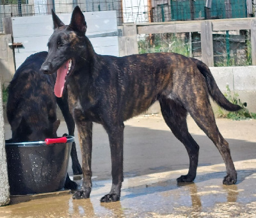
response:
M61 113L63 114L64 120L67 124L68 128L68 135L74 136L75 132L75 121L72 117L72 114L69 111L68 108L68 101L67 101L67 91L63 93L62 98L56 98L57 104L61 109ZM72 171L74 175L80 175L82 174L82 168L79 164L78 158L77 158L77 152L76 152L76 143L72 143L71 152L70 152L71 160L72 160Z

